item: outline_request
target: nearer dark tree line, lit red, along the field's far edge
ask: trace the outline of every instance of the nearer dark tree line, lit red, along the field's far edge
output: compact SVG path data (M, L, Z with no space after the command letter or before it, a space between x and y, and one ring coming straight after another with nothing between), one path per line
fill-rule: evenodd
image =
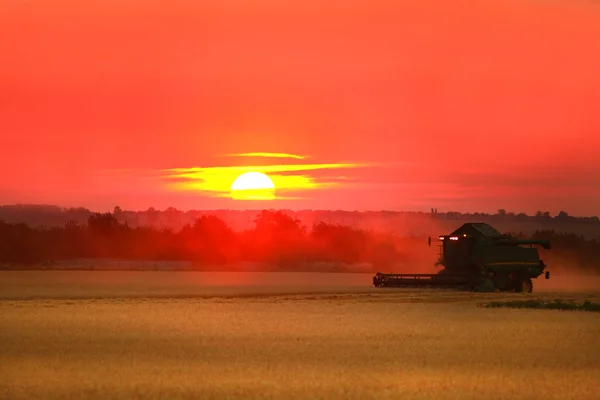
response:
M114 213L96 213L87 223L30 227L0 221L0 263L32 264L56 260L120 259L192 261L199 264L261 262L293 269L311 262L369 263L374 270L427 261L435 249L427 238L364 230L318 222L307 229L299 219L281 211L261 211L251 229L236 232L222 219L204 215L180 230L131 227ZM515 233L513 236L524 237ZM549 239L552 250L542 251L549 265L600 273L600 241L574 233L538 230L533 238Z

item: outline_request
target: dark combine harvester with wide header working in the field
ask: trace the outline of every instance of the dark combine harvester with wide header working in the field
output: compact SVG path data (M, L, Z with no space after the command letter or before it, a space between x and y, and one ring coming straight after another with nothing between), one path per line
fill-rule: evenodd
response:
M550 249L547 240L516 239L503 235L484 223L464 224L450 235L440 236L440 262L437 274L383 274L373 277L375 287L450 287L478 292L533 291L532 278L544 273L539 258L540 245ZM432 238L429 238L431 246ZM524 247L528 246L528 247ZM546 271L546 279L550 272Z

